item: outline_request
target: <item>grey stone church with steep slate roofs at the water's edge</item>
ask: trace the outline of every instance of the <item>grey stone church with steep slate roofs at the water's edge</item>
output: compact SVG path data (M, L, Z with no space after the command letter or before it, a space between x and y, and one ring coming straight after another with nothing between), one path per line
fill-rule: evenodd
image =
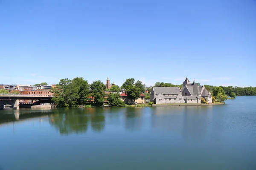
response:
M207 91L204 85L193 83L188 78L180 87L152 87L150 101L154 104L164 103L201 103L201 98L208 103L212 103L212 94Z

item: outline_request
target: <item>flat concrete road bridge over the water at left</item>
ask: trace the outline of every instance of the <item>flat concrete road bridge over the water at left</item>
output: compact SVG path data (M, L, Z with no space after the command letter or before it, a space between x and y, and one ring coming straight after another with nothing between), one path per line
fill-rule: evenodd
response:
M53 96L50 95L29 95L29 94L0 94L0 109L4 105L12 105L12 108L20 108L20 100L51 100Z

